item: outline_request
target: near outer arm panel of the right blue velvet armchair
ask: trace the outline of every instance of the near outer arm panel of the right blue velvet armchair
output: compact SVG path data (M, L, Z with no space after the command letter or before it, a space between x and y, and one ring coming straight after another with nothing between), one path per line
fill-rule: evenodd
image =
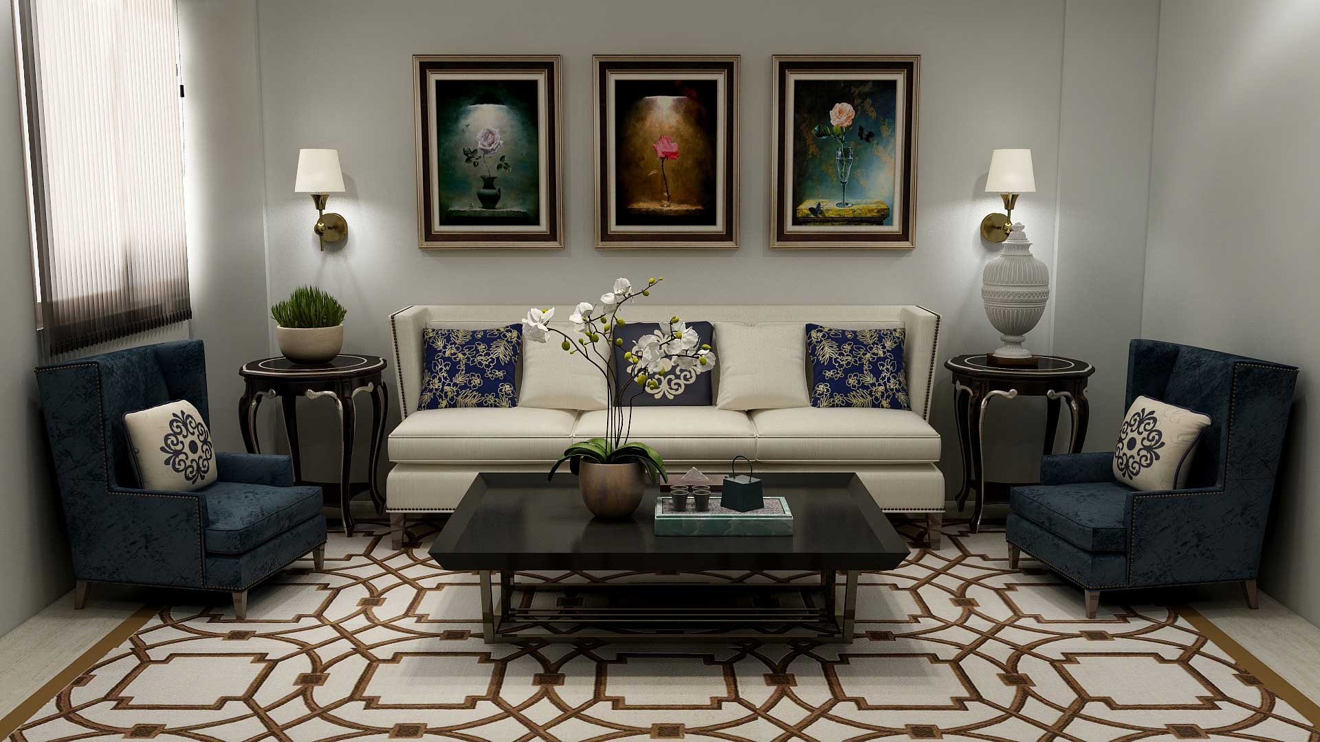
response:
M1129 581L1177 585L1253 580L1269 515L1269 485L1129 492Z

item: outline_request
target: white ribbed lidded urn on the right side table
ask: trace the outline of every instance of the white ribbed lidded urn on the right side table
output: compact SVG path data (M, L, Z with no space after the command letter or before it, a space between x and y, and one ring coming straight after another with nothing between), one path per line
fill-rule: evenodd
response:
M1012 226L1003 252L986 264L981 276L981 301L986 317L1003 347L994 355L1005 359L1031 358L1023 345L1026 334L1036 326L1049 301L1049 268L1031 253L1031 243L1020 223Z

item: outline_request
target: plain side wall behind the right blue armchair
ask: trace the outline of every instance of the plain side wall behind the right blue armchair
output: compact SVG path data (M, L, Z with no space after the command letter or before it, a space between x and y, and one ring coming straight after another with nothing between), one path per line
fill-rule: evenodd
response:
M1164 0L1143 334L1302 367L1261 585L1320 623L1320 4Z

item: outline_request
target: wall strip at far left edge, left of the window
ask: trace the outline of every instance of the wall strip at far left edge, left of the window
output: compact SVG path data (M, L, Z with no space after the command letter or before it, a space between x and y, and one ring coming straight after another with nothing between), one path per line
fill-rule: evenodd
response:
M0 634L22 623L73 586L69 544L37 405L38 363L22 131L13 57L13 20L0 13Z

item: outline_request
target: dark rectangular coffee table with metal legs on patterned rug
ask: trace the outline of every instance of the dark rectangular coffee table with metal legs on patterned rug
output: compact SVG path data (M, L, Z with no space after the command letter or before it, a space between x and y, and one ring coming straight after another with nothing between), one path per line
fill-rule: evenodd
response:
M544 474L479 474L430 548L445 569L480 578L487 643L686 638L851 642L859 570L892 569L908 556L903 539L855 474L762 474L766 495L788 499L792 536L656 536L651 487L631 519L603 522L582 506L577 479ZM820 573L803 585L532 584L519 572L766 572ZM843 602L838 605L837 573ZM499 598L495 595L495 577ZM537 590L570 594L609 589L616 601L537 602ZM750 602L730 597L748 589ZM771 591L796 593L788 601ZM519 595L521 593L521 595ZM630 594L631 593L631 594ZM705 594L705 599L696 599ZM746 593L743 593L746 594ZM638 602L640 598L642 602Z

